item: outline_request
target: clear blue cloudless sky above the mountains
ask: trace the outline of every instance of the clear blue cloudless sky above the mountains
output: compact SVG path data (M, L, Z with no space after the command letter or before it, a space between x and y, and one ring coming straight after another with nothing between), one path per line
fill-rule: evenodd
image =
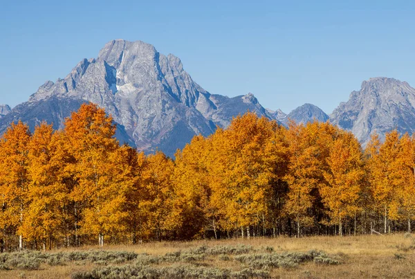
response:
M181 57L211 93L331 113L362 80L415 87L414 1L1 1L0 103L64 78L111 39Z

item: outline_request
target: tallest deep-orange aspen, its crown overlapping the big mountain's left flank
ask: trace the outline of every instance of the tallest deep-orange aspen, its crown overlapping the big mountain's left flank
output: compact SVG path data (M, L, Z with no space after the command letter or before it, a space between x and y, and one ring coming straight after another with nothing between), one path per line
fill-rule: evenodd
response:
M82 225L82 233L98 235L100 246L104 245L104 234L109 232L100 217L109 214L109 209L104 205L109 198L106 188L112 186L112 160L118 148L115 132L116 125L113 124L111 116L107 116L104 109L91 103L81 105L65 121L66 146L73 156L73 163L66 168L77 181L71 192L77 223L75 230ZM80 217L84 217L82 223L78 222Z

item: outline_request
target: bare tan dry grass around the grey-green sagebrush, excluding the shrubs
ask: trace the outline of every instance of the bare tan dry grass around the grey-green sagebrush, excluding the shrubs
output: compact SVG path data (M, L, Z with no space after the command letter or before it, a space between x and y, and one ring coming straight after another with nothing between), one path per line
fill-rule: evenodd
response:
M394 235L360 235L356 237L279 237L258 238L250 240L199 240L193 242L153 242L135 246L105 246L110 251L133 251L164 255L168 252L186 250L206 245L249 244L254 248L273 246L276 252L322 250L329 255L340 258L340 265L320 265L313 262L300 264L295 269L274 269L273 278L415 278L415 250L411 247L415 238L403 234ZM98 246L85 246L77 250L99 249ZM73 251L61 249L59 251ZM55 252L55 251L54 251ZM237 270L239 264L206 259L206 264L214 267ZM0 278L71 278L75 271L88 271L94 264L75 265L69 263L64 267L42 265L36 271L0 271Z

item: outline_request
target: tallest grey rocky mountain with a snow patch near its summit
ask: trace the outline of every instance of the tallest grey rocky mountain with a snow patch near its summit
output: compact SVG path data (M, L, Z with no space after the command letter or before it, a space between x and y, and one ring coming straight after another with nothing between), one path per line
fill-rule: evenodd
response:
M248 110L273 118L251 93L234 98L210 94L178 57L158 53L145 42L116 39L97 58L82 60L63 79L45 82L28 102L13 108L0 120L0 134L14 120L30 129L42 120L62 128L64 118L87 101L113 116L121 142L169 156L196 134L208 136L216 125L226 127Z

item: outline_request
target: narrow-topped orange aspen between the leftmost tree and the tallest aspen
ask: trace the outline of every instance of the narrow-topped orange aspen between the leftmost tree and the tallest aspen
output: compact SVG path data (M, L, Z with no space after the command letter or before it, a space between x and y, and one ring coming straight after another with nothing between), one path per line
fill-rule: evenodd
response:
M20 231L26 240L42 243L43 249L52 248L51 240L62 236L64 227L67 192L59 183L62 162L55 158L55 147L52 125L37 126L28 143L28 208Z

